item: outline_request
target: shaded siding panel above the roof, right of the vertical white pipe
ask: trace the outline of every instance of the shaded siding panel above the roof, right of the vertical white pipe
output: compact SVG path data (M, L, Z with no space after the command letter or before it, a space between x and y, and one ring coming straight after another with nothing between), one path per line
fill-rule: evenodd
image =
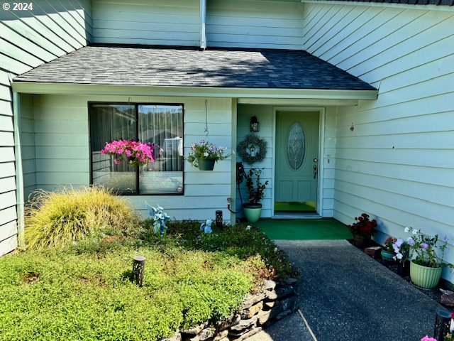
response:
M300 50L303 6L281 1L207 1L207 45Z

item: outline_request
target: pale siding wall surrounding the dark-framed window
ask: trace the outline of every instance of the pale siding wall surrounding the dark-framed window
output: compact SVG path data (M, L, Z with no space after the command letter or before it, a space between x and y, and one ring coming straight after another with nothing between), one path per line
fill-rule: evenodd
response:
M89 185L89 124L87 102L128 102L124 96L34 95L36 187L57 190L62 185ZM205 99L187 97L131 97L131 102L184 104L184 155L204 139ZM232 101L208 100L209 141L231 147ZM57 141L57 143L56 143ZM68 150L71 153L68 153ZM199 171L184 163L184 195L124 196L144 216L145 201L161 205L177 220L214 219L223 210L230 219L231 160L216 163L214 171Z

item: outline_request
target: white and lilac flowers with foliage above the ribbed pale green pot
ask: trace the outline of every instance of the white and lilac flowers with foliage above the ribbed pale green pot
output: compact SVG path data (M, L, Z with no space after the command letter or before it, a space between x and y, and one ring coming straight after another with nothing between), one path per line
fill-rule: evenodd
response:
M406 227L405 232L411 233L411 236L406 241L397 239L392 244L394 252L396 252L396 259L400 261L411 259L415 264L430 268L438 268L443 265L443 256L449 240L447 236L443 237L442 241L439 241L438 234L428 236L412 227ZM438 256L437 249L440 249L441 257Z

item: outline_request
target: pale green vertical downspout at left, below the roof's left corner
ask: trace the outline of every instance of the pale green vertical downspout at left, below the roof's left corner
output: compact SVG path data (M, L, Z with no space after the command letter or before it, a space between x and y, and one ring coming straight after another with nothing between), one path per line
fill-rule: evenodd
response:
M14 155L16 158L16 210L18 246L25 247L23 237L24 202L23 202L23 168L21 152L21 96L13 92Z

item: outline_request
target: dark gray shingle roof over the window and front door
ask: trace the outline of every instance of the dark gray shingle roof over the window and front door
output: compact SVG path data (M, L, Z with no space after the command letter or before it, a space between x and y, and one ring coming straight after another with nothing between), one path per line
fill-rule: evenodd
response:
M19 75L15 82L170 87L375 90L299 50L194 50L91 45Z

